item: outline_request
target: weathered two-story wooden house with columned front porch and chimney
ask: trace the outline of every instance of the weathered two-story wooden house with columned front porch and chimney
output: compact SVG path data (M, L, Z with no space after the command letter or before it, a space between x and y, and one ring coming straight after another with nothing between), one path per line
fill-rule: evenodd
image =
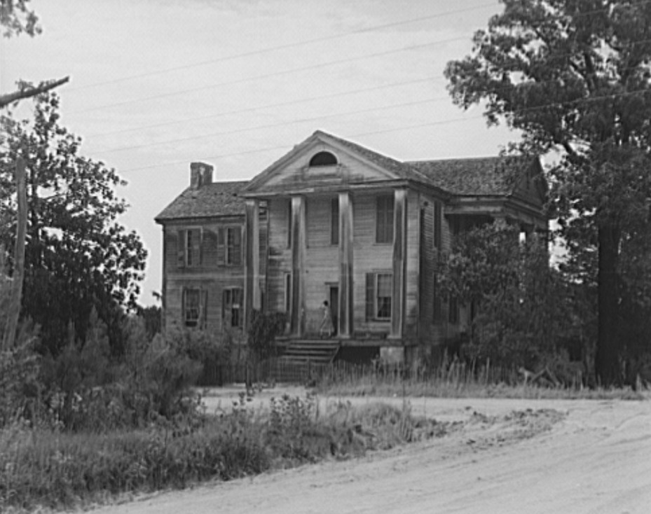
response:
M156 218L165 324L219 332L282 311L305 340L327 300L342 347L413 361L469 319L437 286L453 235L495 219L546 231L546 193L536 158L399 162L320 131L246 183L193 163Z

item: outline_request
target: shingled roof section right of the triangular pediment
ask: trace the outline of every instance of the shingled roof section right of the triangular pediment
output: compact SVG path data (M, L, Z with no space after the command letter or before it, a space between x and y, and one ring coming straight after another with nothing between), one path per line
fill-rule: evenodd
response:
M406 162L441 189L455 195L509 195L518 172L533 166L525 155Z

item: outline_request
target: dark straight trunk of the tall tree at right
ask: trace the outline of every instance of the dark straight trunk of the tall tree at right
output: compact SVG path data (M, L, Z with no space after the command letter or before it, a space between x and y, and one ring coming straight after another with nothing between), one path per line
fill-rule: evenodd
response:
M621 384L619 357L619 301L617 295L617 262L619 260L619 228L613 225L598 229L598 335L594 368L602 386Z

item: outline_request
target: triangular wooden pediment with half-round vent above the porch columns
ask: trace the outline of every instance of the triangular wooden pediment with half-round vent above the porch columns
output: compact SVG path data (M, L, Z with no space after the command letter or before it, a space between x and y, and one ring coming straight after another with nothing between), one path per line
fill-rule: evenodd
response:
M401 167L397 160L317 131L255 176L241 194L399 180Z

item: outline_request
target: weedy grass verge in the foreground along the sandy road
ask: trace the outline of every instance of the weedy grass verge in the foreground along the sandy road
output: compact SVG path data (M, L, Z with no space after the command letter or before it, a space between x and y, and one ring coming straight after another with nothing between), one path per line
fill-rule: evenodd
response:
M446 424L416 419L409 408L336 403L319 412L310 395L273 399L264 412L242 398L219 416L142 430L61 433L15 423L0 431L0 511L80 508L445 433Z

